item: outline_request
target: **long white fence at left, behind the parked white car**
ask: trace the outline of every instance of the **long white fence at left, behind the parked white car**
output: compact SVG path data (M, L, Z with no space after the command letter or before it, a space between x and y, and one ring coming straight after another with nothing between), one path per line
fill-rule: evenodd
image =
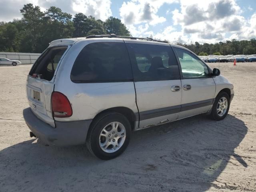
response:
M22 64L34 64L40 55L40 53L0 52L0 57L8 58L10 60L18 60Z

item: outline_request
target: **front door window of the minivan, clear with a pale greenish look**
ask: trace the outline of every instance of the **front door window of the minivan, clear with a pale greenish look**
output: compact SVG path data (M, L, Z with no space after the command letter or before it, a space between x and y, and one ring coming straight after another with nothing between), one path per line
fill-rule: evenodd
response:
M194 54L180 48L175 48L175 50L180 60L183 77L208 77L207 66Z

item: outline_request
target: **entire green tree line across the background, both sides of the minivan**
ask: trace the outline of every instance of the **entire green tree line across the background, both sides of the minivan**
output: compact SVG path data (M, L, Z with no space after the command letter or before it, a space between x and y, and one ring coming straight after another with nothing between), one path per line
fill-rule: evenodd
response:
M49 42L61 38L86 37L92 34L111 34L131 36L120 19L109 17L106 21L93 16L62 12L60 8L50 7L45 12L39 6L26 4L20 9L22 18L12 22L0 22L0 52L41 53ZM151 36L152 37L152 36ZM164 39L165 37L163 37ZM209 54L256 54L256 39L219 42L216 44L182 44L199 55Z

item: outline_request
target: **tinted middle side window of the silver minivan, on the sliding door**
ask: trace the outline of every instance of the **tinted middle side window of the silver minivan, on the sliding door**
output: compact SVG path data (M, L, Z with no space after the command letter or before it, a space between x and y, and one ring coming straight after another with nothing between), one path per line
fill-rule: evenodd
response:
M178 64L170 46L126 43L134 81L180 79Z

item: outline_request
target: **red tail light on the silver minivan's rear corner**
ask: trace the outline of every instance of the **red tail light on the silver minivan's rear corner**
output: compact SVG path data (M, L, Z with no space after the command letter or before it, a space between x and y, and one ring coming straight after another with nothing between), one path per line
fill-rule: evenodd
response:
M60 92L53 92L52 98L52 114L54 117L70 117L72 116L72 107L68 100L68 98L60 93Z

